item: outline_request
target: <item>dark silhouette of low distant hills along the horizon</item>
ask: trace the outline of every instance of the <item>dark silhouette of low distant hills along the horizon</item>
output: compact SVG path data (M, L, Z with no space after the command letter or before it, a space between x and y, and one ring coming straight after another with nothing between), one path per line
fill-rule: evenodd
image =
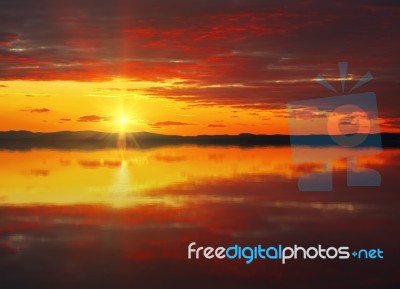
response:
M126 134L126 147L150 148L165 145L224 145L224 146L285 146L290 145L290 139L296 144L305 146L336 145L328 135L256 135L242 133L238 135L197 135L179 136L162 135L149 132ZM101 149L117 147L117 133L96 131L60 131L51 133L35 133L30 131L0 132L0 149L26 150L32 148L54 149ZM384 147L400 147L399 133L381 134ZM370 146L368 137L361 146Z

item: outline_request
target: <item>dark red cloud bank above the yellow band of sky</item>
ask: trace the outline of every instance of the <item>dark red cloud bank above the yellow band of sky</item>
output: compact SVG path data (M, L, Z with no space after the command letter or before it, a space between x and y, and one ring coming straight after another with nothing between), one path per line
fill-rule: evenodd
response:
M293 5L171 0L159 1L156 10L139 1L133 5L134 20L128 4L113 10L106 3L80 1L60 15L68 19L67 26L49 24L59 11L52 4L26 14L19 1L7 2L0 27L13 30L0 32L1 79L179 78L176 86L156 86L145 93L195 105L282 109L303 96L327 96L311 79L324 71L337 77L335 64L349 61L353 79L368 70L377 76L369 87L379 93L381 116L397 115L400 100L393 92L400 76L399 43L392 36L398 34L399 7L385 1L334 1L319 9L317 0ZM78 11L91 12L75 17ZM104 21L108 17L103 12L115 21Z

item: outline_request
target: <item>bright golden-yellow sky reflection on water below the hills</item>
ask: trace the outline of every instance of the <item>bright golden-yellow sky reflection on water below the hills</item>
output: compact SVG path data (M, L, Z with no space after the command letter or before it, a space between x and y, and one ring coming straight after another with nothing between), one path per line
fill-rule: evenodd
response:
M304 151L307 154L307 151ZM309 154L317 156L319 149ZM322 151L321 151L322 154ZM382 165L385 154L362 165ZM256 176L294 179L318 164L293 164L290 147L175 146L149 150L0 151L0 204L179 205L185 198L147 192L182 184ZM310 158L310 160L313 160ZM346 168L334 162L334 170Z

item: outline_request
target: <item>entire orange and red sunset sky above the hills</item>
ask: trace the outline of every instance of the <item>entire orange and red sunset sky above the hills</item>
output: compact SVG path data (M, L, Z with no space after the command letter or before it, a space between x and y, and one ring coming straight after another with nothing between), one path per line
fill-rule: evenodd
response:
M0 9L0 130L288 133L339 61L399 131L396 1L28 1ZM350 87L350 84L349 84Z

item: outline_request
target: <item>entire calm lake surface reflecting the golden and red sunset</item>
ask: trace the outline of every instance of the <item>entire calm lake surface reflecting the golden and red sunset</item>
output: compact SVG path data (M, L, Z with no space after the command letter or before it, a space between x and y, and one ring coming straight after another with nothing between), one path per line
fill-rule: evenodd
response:
M0 151L1 288L398 288L400 150L366 155L358 165L378 170L381 187L346 187L339 159L321 193L298 191L322 167L293 164L289 147ZM385 257L246 265L188 260L192 241Z

